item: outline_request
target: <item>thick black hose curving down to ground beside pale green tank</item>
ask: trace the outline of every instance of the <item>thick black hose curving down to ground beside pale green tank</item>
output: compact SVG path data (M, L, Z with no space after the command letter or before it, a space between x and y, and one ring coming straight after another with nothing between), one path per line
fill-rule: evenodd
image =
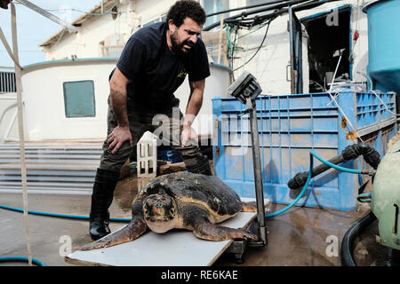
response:
M371 225L376 220L375 215L370 211L367 215L362 217L355 225L352 225L348 232L345 233L341 241L341 264L344 266L357 266L353 256L354 240L356 236L364 231L364 228Z

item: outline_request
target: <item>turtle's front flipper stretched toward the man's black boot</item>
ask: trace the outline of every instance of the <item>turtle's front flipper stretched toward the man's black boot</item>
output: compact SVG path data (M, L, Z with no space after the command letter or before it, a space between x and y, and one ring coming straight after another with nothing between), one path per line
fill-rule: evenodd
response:
M88 243L80 248L74 248L74 250L90 250L94 248L116 246L120 243L138 239L140 235L145 233L147 230L148 225L146 225L145 220L142 217L136 217L132 219L131 223L125 225L116 232L110 233L100 240Z

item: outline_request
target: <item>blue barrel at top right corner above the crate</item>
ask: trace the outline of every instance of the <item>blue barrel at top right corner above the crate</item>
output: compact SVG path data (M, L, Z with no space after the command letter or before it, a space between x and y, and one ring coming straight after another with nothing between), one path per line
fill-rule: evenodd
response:
M372 88L400 95L400 1L381 0L364 7L368 15L368 75ZM399 113L397 104L397 113Z

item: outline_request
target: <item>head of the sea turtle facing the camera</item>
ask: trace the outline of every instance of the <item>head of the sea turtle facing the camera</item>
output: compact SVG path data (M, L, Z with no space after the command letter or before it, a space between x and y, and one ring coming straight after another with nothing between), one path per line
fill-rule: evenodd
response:
M155 233L171 230L178 219L176 202L165 193L148 195L143 202L143 214L148 227Z

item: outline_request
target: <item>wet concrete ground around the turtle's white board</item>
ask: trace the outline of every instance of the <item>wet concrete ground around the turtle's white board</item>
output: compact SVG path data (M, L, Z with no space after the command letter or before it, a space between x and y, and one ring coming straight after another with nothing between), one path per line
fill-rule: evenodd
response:
M127 177L117 185L110 207L111 217L131 217L131 204L137 192L138 180ZM22 208L20 193L0 193L0 204ZM270 212L284 205L271 204ZM68 215L88 216L90 196L28 194L28 209ZM236 264L233 256L223 254L214 263L251 266L339 266L340 243L348 228L368 212L367 206L354 212L293 207L282 215L267 219L268 245L248 248L244 263ZM60 217L28 215L33 257L49 266L75 266L64 261L67 249L90 240L89 222ZM112 231L124 223L111 223ZM388 265L388 249L377 241L377 222L356 240L355 257L359 265ZM27 256L23 214L0 209L0 257ZM392 263L394 264L394 263ZM1 265L24 265L2 263ZM168 265L168 264L165 264Z

